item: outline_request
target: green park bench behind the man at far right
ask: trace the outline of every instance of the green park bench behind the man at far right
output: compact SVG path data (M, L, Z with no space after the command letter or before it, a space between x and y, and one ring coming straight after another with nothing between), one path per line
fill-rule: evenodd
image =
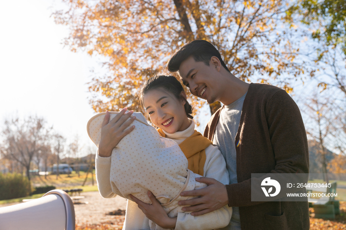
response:
M310 183L311 184L311 183ZM329 187L307 188L308 193L322 192L325 194L336 193L337 183L330 183ZM334 196L323 196L319 199L308 197L309 207L313 207L315 218L334 219L336 214L340 214L340 203Z

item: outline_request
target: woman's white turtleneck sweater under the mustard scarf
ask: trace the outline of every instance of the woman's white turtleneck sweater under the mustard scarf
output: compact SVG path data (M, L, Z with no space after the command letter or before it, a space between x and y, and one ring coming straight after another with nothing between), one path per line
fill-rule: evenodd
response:
M177 144L182 143L186 138L191 136L195 131L195 122L190 120L190 126L184 131L167 133L169 138ZM112 198L116 196L112 192L110 184L110 168L111 156L101 157L96 154L96 180L100 194L104 198ZM224 185L229 184L228 171L226 170L226 162L216 146L210 145L206 148L206 162L204 164L205 177L214 178ZM227 226L232 215L232 208L227 205L208 214L202 216L192 216L190 213L178 213L175 230L210 230ZM149 219L138 208L135 202L128 200L126 207L126 216L124 230L150 230Z

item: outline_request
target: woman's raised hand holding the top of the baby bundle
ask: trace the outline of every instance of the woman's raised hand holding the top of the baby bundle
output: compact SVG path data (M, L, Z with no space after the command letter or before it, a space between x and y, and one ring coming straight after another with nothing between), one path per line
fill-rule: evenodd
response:
M112 120L109 120L109 112L106 112L106 115L104 116L102 122L101 140L100 144L98 145L99 156L111 156L113 148L118 145L123 137L128 135L134 129L134 125L126 129L136 118L135 116L132 116L128 121L126 121L130 117L130 115L133 114L133 111L125 114L126 111L127 108L124 108Z

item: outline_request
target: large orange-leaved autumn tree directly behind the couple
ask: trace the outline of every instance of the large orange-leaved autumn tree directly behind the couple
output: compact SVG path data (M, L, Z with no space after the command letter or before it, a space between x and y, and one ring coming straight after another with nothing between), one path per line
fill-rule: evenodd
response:
M303 71L296 62L294 30L282 23L288 0L62 0L68 10L52 15L70 28L64 44L74 52L106 58L107 76L89 82L96 112L139 110L133 95L142 82L164 73L169 57L194 39L212 42L229 70L243 80L276 79L291 91L287 76ZM288 77L290 78L290 77ZM198 107L204 102L192 95ZM210 106L214 113L219 104Z

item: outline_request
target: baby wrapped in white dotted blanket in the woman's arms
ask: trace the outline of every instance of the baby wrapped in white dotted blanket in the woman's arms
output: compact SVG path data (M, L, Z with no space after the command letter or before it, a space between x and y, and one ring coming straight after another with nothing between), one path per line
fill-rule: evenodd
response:
M112 119L118 112L110 112ZM90 139L98 147L101 139L101 126L105 113L93 116L87 123ZM188 167L188 161L179 146L159 135L149 125L141 113L133 113L135 128L126 135L112 151L110 182L112 191L128 198L132 194L145 203L151 203L147 192L150 190L160 201L169 217L183 212L179 200L193 197L180 196L183 191L206 187L195 180L200 177ZM151 230L160 226L149 221Z

